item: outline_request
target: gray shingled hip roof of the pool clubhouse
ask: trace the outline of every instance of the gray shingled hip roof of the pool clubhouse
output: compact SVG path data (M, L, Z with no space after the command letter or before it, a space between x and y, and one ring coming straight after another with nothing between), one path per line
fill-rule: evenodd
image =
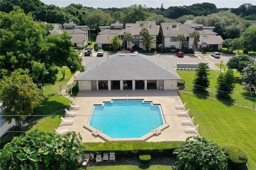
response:
M180 80L164 59L137 53L120 53L96 58L86 65L77 80Z

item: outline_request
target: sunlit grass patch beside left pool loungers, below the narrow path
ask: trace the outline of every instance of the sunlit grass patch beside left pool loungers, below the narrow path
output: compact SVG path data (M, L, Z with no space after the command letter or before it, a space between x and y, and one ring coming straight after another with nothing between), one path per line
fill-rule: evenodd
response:
M55 132L54 128L58 128L60 125L61 116L65 116L65 111L61 110L52 115L44 117L42 119L38 119L32 123L32 128L30 131L38 129L41 132Z

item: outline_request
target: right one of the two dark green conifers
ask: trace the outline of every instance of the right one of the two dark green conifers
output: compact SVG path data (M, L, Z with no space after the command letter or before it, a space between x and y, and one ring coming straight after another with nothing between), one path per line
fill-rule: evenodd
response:
M226 73L220 73L217 78L217 94L219 97L229 97L235 88L235 77L232 69L228 69Z

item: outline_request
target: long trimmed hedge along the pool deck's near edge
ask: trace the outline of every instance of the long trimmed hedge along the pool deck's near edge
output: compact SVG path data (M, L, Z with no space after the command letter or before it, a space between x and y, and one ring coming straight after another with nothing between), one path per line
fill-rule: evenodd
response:
M183 145L183 141L166 142L85 142L86 152L115 152L116 156L134 156L140 154L172 155L174 149Z

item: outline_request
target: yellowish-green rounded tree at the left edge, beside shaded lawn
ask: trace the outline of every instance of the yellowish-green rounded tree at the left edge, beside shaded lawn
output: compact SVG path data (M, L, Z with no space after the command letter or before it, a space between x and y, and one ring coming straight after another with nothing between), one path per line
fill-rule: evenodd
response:
M39 96L36 86L32 78L27 75L20 75L18 71L12 72L10 77L2 77L0 97L4 112L1 115L8 123L15 119L20 122L21 128L24 115L31 115L40 104L42 97Z

